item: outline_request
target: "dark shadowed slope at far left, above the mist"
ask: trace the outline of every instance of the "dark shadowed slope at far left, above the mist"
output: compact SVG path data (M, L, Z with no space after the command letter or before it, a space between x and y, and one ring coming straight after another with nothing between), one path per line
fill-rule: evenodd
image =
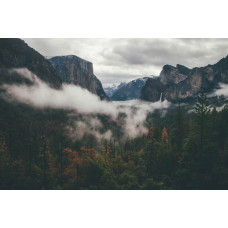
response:
M21 39L0 39L0 69L28 68L51 87L60 88L62 80L49 61ZM1 77L0 77L1 79Z

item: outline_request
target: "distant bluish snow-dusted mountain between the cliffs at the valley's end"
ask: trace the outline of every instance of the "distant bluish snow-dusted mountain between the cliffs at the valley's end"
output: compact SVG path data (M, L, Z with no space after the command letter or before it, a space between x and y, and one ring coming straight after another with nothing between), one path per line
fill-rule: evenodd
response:
M149 77L138 78L118 89L111 97L113 101L125 101L138 99L141 96L142 87Z

